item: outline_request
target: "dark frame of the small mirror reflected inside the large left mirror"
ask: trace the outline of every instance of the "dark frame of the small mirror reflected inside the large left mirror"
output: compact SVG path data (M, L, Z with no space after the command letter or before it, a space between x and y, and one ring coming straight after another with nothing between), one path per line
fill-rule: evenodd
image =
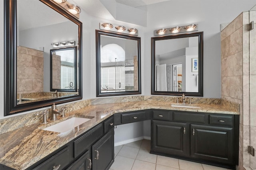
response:
M52 53L54 51L74 50L74 89L56 89L52 88ZM53 92L77 92L77 47L62 47L50 50L50 91Z

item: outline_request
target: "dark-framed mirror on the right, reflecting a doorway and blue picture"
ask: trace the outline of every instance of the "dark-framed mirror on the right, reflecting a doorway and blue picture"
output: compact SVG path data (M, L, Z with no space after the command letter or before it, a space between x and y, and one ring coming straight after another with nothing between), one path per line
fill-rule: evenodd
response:
M203 32L151 40L151 94L203 96Z

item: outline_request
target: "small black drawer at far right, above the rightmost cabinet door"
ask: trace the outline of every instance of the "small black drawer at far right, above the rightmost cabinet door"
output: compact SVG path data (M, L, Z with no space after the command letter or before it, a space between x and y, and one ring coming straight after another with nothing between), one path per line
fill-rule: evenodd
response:
M210 125L233 126L233 115L210 115Z

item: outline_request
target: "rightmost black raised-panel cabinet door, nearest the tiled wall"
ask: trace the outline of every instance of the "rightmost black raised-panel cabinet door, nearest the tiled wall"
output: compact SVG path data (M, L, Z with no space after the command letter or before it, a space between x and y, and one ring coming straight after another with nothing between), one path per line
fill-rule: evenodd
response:
M233 163L234 131L231 127L191 125L191 156L220 163Z

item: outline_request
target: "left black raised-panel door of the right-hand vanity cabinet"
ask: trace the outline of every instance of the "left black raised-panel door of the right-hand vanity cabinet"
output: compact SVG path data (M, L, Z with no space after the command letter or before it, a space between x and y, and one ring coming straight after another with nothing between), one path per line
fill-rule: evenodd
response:
M186 123L153 120L151 151L189 155L188 128Z

